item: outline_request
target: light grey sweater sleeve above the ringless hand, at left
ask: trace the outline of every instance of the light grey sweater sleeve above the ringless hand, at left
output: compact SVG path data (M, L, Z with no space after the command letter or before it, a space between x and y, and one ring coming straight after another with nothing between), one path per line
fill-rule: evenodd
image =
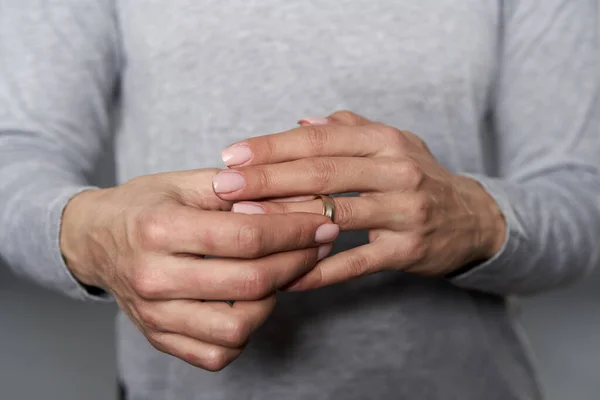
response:
M62 212L111 139L119 52L113 5L0 0L0 255L80 299L59 249Z

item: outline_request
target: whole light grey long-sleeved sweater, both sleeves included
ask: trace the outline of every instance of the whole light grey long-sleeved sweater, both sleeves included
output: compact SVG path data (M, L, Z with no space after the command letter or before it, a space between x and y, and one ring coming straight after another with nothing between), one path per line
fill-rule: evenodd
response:
M130 399L538 399L508 299L599 258L597 29L596 0L0 0L0 254L107 300L58 248L103 145L122 182L219 166L233 141L350 109L478 179L506 218L502 250L451 280L282 293L218 373L159 353L120 315Z

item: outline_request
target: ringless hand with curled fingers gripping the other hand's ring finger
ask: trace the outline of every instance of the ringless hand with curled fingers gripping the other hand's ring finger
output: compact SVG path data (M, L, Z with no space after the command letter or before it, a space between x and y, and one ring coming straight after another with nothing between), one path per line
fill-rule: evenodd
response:
M217 172L82 192L65 208L60 235L79 281L110 292L155 348L211 371L240 355L275 291L312 269L339 231L317 214L224 212L231 204L213 192Z

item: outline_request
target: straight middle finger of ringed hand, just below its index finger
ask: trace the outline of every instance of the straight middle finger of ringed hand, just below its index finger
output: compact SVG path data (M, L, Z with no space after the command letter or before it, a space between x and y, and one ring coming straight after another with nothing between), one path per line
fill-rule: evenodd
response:
M422 175L410 162L384 158L317 157L222 171L213 181L230 201L315 193L385 192L418 186ZM235 185L231 182L235 181Z

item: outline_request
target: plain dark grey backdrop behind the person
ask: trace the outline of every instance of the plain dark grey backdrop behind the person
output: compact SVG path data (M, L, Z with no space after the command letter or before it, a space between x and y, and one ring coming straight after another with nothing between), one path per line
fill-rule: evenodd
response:
M95 181L113 180L107 151ZM547 400L600 399L599 288L600 268L575 286L521 300ZM115 399L115 313L114 305L19 280L0 262L0 399Z

